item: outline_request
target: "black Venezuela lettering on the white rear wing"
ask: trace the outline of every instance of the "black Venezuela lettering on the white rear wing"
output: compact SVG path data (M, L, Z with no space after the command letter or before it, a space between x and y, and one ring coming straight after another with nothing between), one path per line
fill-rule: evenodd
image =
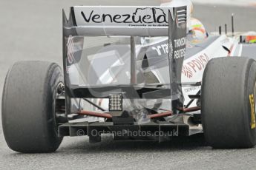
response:
M88 15L86 15L88 14ZM129 26L138 26L145 24L151 27L168 26L168 18L164 10L157 7L135 8L134 13L96 13L95 10L84 13L81 11L82 18L86 23L116 23L129 24Z

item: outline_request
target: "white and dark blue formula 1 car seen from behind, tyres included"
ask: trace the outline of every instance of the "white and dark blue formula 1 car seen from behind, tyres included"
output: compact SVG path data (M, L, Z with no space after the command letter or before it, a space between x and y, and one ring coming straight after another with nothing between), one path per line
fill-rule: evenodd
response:
M256 144L255 34L196 38L188 8L74 6L63 11L63 70L10 68L5 140L54 152L65 136L168 140L203 133L213 148ZM200 29L197 29L200 30ZM246 57L242 57L246 56Z

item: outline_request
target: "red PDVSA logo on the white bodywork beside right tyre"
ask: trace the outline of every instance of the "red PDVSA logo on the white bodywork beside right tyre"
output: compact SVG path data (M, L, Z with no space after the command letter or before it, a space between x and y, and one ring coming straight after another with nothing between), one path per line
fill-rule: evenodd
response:
M203 70L206 67L208 61L209 57L208 55L206 55L206 53L198 56L197 58L192 59L191 61L183 65L183 75L185 75L187 78L193 77L195 73Z

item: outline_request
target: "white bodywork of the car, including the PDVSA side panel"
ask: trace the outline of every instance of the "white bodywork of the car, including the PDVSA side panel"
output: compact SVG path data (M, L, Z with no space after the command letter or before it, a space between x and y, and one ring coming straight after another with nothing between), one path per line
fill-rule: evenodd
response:
M166 38L157 39L151 43L159 43L159 41L165 41ZM222 46L229 49L231 52L225 50ZM137 52L140 51L141 46L137 47ZM163 47L154 47L152 48L158 50L160 54L165 52ZM183 72L182 72L182 83L195 83L201 82L203 78L203 72L206 68L206 64L208 63L211 58L218 58L218 57L229 57L229 56L240 56L241 45L238 44L238 41L235 38L228 38L226 35L221 35L218 37L212 44L209 44L208 47L201 50L195 55L192 55L189 58L186 58L183 62ZM164 67L161 69L154 69L151 70L154 75L156 75L157 79L161 82L168 81L168 68ZM188 95L195 95L200 90L201 86L183 86L183 95L184 95L184 105L186 105L191 99L188 98ZM101 100L97 103L108 109L108 100ZM191 103L191 106L196 106L196 101ZM163 106L165 107L165 106ZM161 108L163 108L161 107ZM163 108L164 109L164 108ZM165 109L168 109L166 106Z

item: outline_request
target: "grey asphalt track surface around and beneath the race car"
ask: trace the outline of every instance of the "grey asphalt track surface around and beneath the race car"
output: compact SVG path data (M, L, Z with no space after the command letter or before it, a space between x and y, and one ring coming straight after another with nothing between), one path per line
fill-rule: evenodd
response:
M62 65L62 7L74 4L153 5L157 1L1 0L0 96L7 69L15 61ZM220 24L230 25L232 13L237 31L256 30L256 8L194 7L194 17L209 31L216 31ZM56 153L19 154L7 147L0 126L0 169L256 169L255 153L256 149L211 149L197 136L165 143L116 142L103 137L95 144L88 137L65 137Z

